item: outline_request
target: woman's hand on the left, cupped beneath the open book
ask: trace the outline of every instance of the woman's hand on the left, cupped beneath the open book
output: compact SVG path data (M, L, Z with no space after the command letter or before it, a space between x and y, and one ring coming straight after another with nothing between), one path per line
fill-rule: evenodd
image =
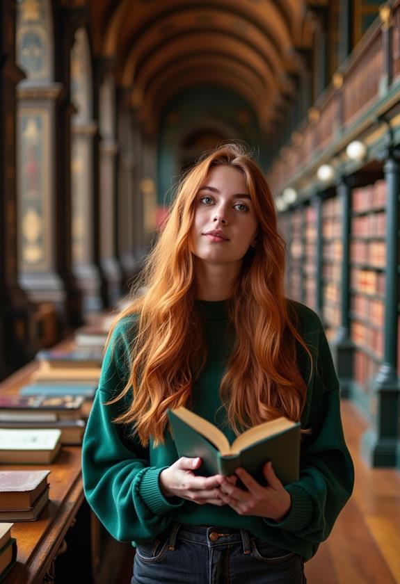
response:
M187 458L182 456L168 469L163 469L159 476L161 491L165 497L181 497L193 501L198 505L225 505L221 498L220 483L221 475L196 476L193 470L198 469L201 458ZM237 481L237 476L226 477L232 482Z

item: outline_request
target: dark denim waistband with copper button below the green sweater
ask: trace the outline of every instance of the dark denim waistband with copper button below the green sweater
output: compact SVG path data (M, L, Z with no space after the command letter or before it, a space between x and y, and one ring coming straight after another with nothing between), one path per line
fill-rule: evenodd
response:
M193 544L205 545L208 547L225 546L241 543L243 553L250 553L250 540L254 535L246 529L232 529L218 526L191 526L185 524L173 524L168 535L168 549L175 550L177 540L185 540Z

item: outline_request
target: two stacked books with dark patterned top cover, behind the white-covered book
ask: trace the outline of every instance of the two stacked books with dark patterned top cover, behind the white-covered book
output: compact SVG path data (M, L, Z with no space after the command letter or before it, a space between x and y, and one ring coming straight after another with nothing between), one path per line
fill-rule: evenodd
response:
M83 396L0 396L1 428L58 428L61 444L82 444L85 417Z

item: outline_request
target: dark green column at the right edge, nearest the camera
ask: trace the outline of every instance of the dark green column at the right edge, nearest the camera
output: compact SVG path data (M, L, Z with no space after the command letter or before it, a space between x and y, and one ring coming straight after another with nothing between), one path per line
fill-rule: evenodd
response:
M383 363L371 383L372 428L362 437L362 455L372 467L400 464L397 375L399 322L399 192L400 149L390 149L383 166L387 181L386 285Z

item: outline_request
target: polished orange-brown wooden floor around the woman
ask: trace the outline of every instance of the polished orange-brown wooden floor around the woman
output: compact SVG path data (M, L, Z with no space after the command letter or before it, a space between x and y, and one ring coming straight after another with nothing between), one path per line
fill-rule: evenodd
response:
M400 472L369 469L359 454L367 423L347 401L342 417L355 467L354 492L328 540L306 563L307 584L400 584ZM129 550L121 583L129 583L132 562Z

